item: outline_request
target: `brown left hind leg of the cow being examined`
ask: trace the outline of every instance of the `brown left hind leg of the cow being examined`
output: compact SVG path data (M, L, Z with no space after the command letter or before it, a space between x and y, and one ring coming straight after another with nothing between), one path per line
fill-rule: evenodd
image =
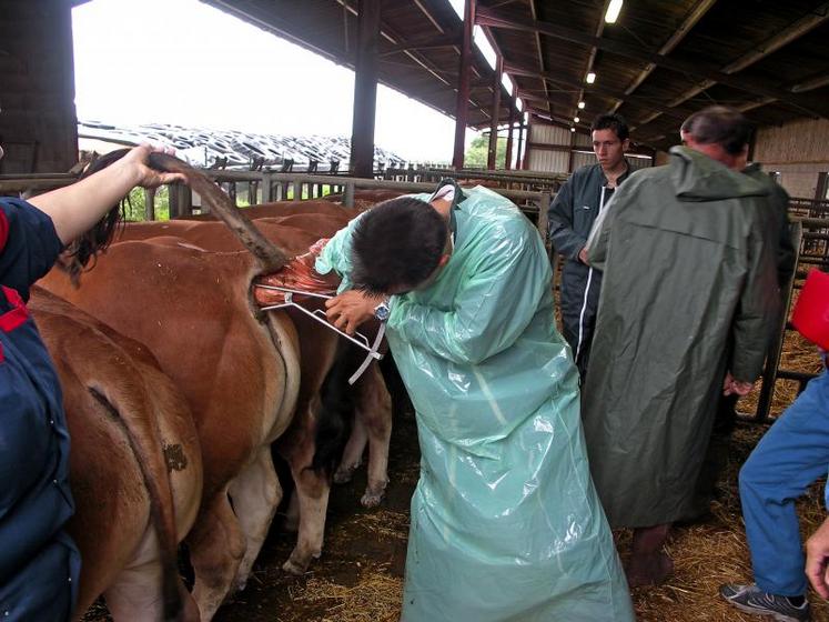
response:
M244 534L225 490L202 508L188 544L195 573L193 598L206 622L228 596L245 551Z

